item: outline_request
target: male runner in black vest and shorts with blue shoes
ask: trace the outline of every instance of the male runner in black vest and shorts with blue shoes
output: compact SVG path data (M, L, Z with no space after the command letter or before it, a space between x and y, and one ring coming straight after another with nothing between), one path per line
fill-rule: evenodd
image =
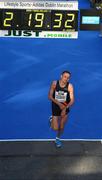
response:
M74 103L73 85L69 83L70 77L69 71L62 72L60 80L52 82L48 94L48 98L52 101L51 128L57 131L56 147L62 146L60 136L68 119L69 107Z

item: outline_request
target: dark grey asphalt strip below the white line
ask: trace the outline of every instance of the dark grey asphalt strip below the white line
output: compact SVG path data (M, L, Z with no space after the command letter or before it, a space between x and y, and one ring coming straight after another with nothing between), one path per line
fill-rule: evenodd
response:
M101 142L0 142L0 180L101 179Z

